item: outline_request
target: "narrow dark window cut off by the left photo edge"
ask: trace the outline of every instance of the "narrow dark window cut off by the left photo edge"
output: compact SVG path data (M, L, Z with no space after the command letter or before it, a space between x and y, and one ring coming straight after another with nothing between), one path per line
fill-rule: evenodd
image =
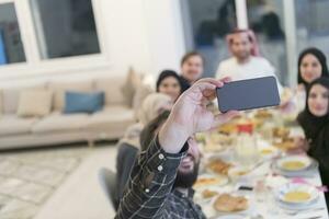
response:
M25 54L13 3L0 4L0 65L23 62Z

